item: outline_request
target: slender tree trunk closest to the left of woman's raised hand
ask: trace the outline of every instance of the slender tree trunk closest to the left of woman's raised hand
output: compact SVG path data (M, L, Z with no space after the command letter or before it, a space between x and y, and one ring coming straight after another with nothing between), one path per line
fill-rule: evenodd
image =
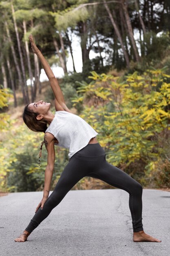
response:
M23 20L23 28L24 28L24 35L26 35L26 22ZM31 100L34 101L34 82L33 82L33 73L31 70L31 62L30 62L30 56L29 56L29 46L28 41L25 41L25 49L26 49L26 57L27 57L27 63L28 63L28 69L29 69L29 78L31 80Z

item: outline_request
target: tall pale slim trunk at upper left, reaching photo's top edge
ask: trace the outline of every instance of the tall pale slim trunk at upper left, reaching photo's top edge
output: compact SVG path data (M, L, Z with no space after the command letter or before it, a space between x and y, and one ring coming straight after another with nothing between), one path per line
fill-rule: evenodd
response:
M27 103L29 103L29 93L28 93L28 87L27 87L27 84L26 84L24 61L23 61L23 58L22 58L20 38L19 38L19 34L18 34L18 27L17 27L17 23L16 23L16 19L15 19L15 10L14 10L14 7L13 7L12 0L11 0L11 9L12 9L13 23L14 23L14 28L15 28L16 38L17 38L18 51L19 51L20 61L21 61L21 69L22 69L25 91L26 91L26 100L27 100Z

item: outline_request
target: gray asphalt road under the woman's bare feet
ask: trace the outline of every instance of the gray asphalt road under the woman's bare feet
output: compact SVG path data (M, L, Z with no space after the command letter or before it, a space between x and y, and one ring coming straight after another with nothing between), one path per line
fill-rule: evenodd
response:
M143 225L161 243L135 243L128 193L120 189L69 191L25 243L42 192L0 198L0 256L170 256L170 192L144 189Z

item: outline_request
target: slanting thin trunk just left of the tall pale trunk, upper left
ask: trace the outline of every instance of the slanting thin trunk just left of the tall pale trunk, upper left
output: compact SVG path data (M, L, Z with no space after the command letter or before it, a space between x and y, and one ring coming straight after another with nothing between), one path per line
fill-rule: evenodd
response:
M5 17L4 17L4 19L5 19ZM17 73L18 73L18 79L19 79L19 84L20 84L20 87L21 87L24 103L27 104L28 102L27 102L27 98L26 98L26 95L25 95L24 83L22 81L20 66L18 64L18 60L17 60L16 54L15 54L15 49L14 49L13 44L12 44L11 36L9 34L7 21L5 20L4 23L5 23L5 27L6 27L6 30L7 30L7 37L8 37L9 43L10 43L11 52L12 52L12 55L13 55L13 60L14 60L15 67L16 67L16 70L17 70Z

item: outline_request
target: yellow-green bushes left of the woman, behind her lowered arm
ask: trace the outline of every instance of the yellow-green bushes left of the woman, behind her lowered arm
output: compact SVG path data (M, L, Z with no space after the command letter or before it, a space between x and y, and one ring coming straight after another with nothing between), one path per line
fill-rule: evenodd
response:
M42 150L40 168L38 153L43 135L30 131L25 124L4 131L0 142L0 191L42 190L47 152ZM24 138L24 139L23 139ZM68 150L56 148L55 171L51 189L54 188L63 166L68 162Z

